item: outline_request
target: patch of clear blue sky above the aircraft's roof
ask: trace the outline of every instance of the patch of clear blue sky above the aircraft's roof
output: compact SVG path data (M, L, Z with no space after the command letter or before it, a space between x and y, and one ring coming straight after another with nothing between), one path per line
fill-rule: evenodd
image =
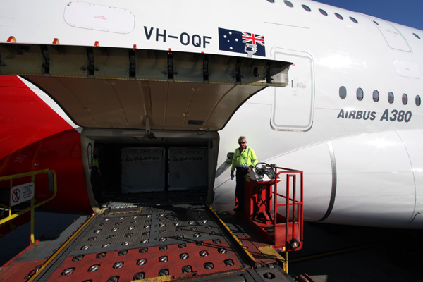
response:
M317 0L423 30L423 0Z

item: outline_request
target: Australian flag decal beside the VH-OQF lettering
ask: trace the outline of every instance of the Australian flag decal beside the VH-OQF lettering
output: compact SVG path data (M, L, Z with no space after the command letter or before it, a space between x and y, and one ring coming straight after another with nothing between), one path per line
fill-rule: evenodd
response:
M219 27L219 50L248 54L248 56L266 56L264 35Z

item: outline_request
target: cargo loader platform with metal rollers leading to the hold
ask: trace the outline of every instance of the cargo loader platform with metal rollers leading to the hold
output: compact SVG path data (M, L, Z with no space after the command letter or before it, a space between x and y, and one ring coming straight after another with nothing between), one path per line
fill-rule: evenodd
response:
M234 228L206 206L111 206L12 259L0 280L293 281Z

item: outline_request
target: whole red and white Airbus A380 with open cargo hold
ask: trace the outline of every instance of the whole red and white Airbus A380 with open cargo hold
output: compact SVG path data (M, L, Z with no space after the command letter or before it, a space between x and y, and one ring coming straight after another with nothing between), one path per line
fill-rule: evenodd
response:
M309 0L47 2L2 5L0 176L54 169L51 209L98 207L95 144L122 193L232 208L245 135L305 171L306 221L423 227L421 30Z

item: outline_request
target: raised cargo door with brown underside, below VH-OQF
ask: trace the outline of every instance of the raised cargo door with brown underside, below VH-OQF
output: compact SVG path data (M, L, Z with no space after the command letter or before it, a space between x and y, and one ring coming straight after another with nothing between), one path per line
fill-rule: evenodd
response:
M0 44L22 75L84 128L220 130L245 99L285 86L285 61L102 47Z

